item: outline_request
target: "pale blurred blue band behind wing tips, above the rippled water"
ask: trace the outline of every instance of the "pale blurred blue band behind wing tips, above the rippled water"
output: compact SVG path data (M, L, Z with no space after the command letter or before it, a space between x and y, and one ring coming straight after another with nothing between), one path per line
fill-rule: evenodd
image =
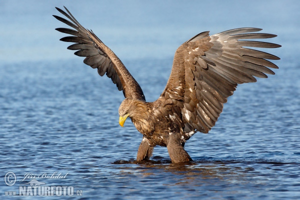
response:
M297 0L0 0L0 62L79 59L54 30L66 25L52 14L66 6L75 18L121 60L172 57L193 35L237 27L259 27L277 34L281 58L299 49ZM276 49L276 52L277 49ZM278 53L277 53L278 54Z

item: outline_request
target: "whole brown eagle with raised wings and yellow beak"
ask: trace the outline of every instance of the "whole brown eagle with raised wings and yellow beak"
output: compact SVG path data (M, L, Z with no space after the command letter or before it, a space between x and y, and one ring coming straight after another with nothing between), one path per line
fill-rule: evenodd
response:
M137 160L149 159L155 145L166 146L173 163L191 160L183 148L185 141L196 131L211 129L237 84L255 82L254 76L267 77L265 73L274 74L269 68L278 68L267 60L279 59L277 56L244 47L280 47L249 40L274 34L249 33L259 28L237 28L211 36L208 31L201 32L178 47L165 89L157 100L146 102L139 84L119 58L66 8L67 13L56 9L70 21L53 16L75 29L56 28L74 35L60 40L75 42L68 49L78 50L75 55L85 57L84 63L97 68L101 76L106 73L123 91L119 123L123 126L130 117L143 135Z

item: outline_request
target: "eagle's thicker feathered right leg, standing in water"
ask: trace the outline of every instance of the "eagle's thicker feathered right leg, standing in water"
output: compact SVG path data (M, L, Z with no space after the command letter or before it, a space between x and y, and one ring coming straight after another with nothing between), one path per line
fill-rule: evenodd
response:
M184 142L181 141L180 137L180 133L171 133L168 137L166 147L172 163L187 162L192 160L188 153L184 150Z

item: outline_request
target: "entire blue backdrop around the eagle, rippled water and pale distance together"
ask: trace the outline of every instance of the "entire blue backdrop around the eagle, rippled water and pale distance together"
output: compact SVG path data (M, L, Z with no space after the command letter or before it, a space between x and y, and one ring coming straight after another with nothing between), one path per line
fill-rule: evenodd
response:
M28 173L46 186L72 186L77 199L300 198L297 1L205 2L215 15L192 6L198 1L17 2L0 1L5 19L0 21L1 199L9 198L5 191L18 193L21 184L34 179L24 179ZM148 101L163 90L176 47L204 30L256 26L278 34L269 41L282 47L268 52L281 57L275 62L279 69L238 86L211 131L186 142L191 163L171 164L160 146L151 161L136 163L142 135L130 120L118 125L122 93L58 41L63 34L53 29L63 25L51 14L61 5L104 37ZM102 15L88 11L92 5ZM197 22L202 15L209 20ZM12 186L4 182L9 171L16 176ZM54 172L66 175L41 177ZM52 198L61 197L68 196Z

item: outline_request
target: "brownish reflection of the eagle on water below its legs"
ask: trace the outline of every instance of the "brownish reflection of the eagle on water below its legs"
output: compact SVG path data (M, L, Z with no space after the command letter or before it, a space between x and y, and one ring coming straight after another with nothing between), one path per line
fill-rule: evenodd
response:
M237 163L236 161L231 163ZM170 160L117 160L112 164L121 164L117 167L120 171L134 171L134 174L141 175L141 178L155 177L157 173L165 173L165 179L171 178L171 181L166 181L164 185L184 185L194 187L200 186L206 179L213 182L229 181L242 182L244 173L253 170L251 167L241 168L230 166L230 161L217 160L200 160L191 161L188 163L171 163ZM133 165L132 165L133 164ZM225 177L225 178L224 178Z

